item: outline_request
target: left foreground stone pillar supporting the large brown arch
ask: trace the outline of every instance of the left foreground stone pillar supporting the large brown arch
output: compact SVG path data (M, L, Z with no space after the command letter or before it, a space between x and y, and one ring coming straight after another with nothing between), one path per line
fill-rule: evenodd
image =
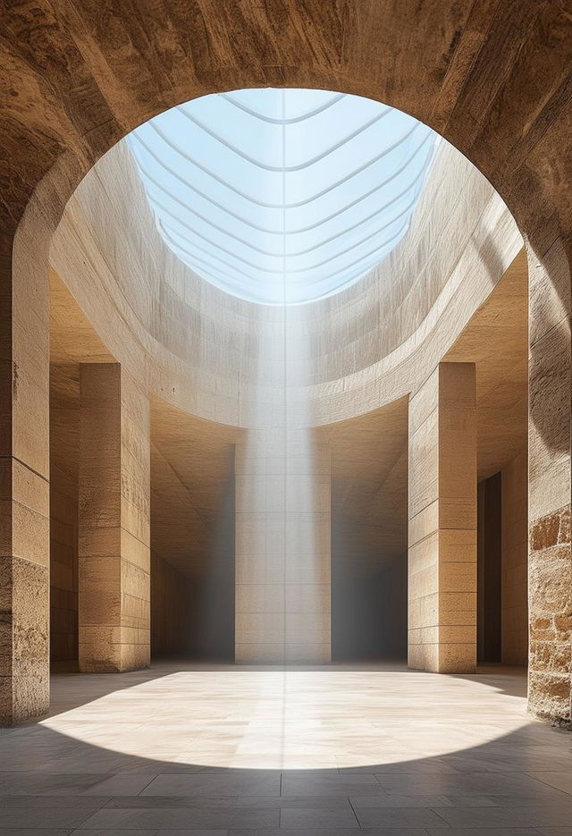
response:
M49 287L28 229L0 261L2 725L49 708Z

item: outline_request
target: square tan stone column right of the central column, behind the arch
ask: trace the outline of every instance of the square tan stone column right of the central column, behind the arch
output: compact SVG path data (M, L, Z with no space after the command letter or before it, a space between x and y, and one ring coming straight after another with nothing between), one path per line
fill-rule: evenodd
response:
M408 664L476 664L475 365L441 363L409 401Z

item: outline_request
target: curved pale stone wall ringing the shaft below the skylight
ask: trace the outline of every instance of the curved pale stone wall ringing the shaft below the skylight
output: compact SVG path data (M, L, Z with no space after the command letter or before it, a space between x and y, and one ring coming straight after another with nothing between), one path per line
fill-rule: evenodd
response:
M347 291L292 308L299 351L269 361L275 309L217 290L175 258L120 144L71 198L51 264L150 394L204 418L257 426L260 400L279 396L277 364L295 379L302 360L300 397L327 425L416 391L521 248L501 198L443 143L405 239Z

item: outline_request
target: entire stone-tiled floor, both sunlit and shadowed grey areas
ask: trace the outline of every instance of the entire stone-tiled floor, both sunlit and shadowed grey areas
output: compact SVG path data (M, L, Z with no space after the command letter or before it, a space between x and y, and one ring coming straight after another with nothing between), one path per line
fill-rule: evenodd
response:
M0 731L0 836L572 836L571 736L517 671L63 675Z

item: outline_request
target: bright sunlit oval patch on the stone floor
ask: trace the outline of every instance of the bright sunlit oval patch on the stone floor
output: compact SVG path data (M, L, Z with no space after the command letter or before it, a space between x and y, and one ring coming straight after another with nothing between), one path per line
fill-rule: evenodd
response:
M530 724L510 678L417 671L161 666L112 677L66 676L88 699L41 722L91 747L182 766L338 769L439 758ZM517 690L526 682L512 677ZM89 689L91 688L91 692ZM79 696L79 695L78 695Z

